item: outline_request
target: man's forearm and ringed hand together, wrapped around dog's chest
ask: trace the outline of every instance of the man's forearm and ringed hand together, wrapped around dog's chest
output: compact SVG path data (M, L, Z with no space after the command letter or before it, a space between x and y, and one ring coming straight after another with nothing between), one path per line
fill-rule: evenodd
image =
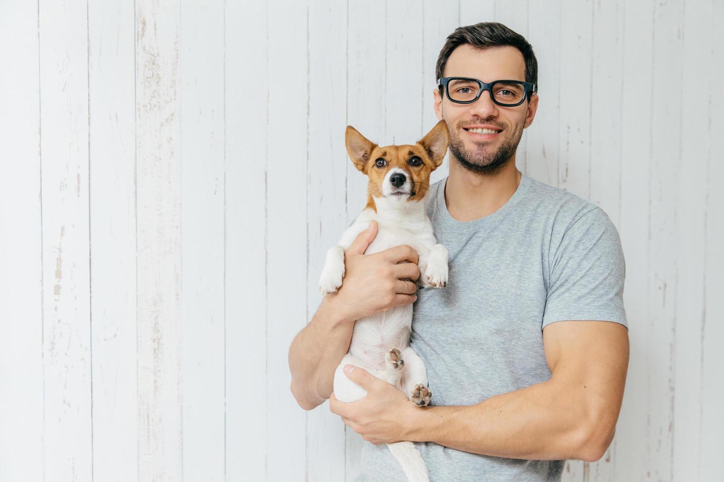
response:
M394 246L376 254L364 251L377 233L377 223L360 233L345 251L345 277L337 293L322 299L311 322L289 348L290 390L304 410L312 410L332 393L334 370L350 348L356 319L411 304L416 295L400 294L400 278L420 274L416 251ZM409 261L398 264L403 261Z

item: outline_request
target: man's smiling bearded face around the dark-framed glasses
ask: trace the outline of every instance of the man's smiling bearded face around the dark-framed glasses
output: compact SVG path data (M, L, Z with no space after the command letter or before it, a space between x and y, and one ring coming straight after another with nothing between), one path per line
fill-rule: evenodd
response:
M472 77L483 82L526 80L523 54L515 47L479 50L470 45L455 48L447 59L443 77ZM435 90L437 119L445 119L450 132L450 152L468 171L496 173L514 157L523 129L531 125L538 107L538 95L520 106L498 106L489 91L481 92L471 104L458 104ZM496 134L479 134L468 129L492 128Z

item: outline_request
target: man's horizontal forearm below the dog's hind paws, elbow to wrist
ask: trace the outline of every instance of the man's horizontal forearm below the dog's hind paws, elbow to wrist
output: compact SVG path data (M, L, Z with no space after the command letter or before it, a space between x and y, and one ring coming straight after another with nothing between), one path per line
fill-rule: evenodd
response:
M408 440L494 457L598 460L602 441L590 435L583 390L550 379L476 405L420 409Z

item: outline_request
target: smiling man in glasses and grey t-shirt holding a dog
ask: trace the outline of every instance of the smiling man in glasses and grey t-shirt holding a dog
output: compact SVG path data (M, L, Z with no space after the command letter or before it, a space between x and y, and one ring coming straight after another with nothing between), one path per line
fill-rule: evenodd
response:
M291 390L306 410L322 403L354 320L416 300L411 345L426 363L431 405L416 408L352 366L368 395L330 397L332 412L371 442L361 480L404 480L384 443L411 440L431 481L558 481L565 459L594 462L613 440L628 367L618 232L596 205L515 168L538 106L536 58L521 35L498 23L459 27L437 77L450 175L431 186L427 212L449 251L447 288L417 300L381 290L405 277L397 262L417 257L406 246L363 255L373 223L345 253L340 290L292 342Z

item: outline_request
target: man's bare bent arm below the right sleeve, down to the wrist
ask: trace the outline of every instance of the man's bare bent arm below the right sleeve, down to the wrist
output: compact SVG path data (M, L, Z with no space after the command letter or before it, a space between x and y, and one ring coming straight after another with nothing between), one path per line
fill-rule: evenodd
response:
M476 405L417 410L407 440L496 457L599 460L623 400L628 330L615 322L554 322L543 341L550 380Z

